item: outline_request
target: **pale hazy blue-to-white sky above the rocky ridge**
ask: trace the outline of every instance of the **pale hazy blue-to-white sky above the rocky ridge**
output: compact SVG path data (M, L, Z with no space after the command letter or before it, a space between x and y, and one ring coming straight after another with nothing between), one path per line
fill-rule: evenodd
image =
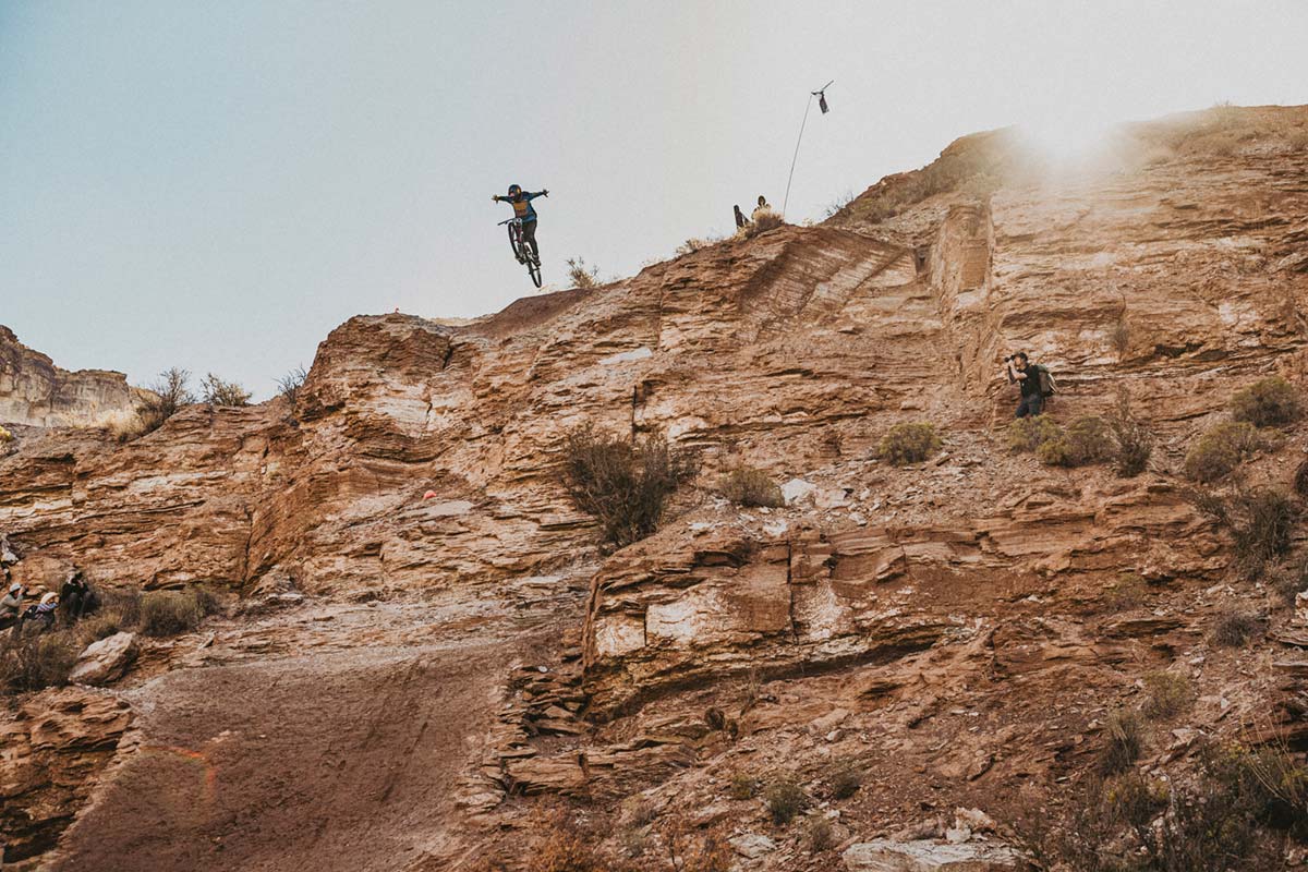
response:
M545 281L789 218L1014 123L1308 102L1308 3L0 0L0 323L67 369L266 397L361 312Z

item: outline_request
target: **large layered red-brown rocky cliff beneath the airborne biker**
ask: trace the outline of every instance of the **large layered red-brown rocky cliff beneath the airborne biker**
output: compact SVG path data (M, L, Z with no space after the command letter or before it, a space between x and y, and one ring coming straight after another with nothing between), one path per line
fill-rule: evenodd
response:
M981 818L943 843L920 825L980 808L1002 830L1057 799L1146 676L1193 699L1148 727L1143 771L1180 774L1209 733L1298 743L1275 667L1294 646L1211 641L1231 611L1294 638L1291 611L1233 571L1180 469L1237 390L1301 384L1305 131L1304 109L1222 110L1124 129L1080 165L968 137L821 225L466 326L351 319L294 403L190 407L122 446L21 439L0 460L16 578L77 565L245 605L150 642L110 690L10 706L10 854L526 868L559 800L647 868L662 848L632 855L671 821L721 833L739 868L1018 868ZM1150 468L1010 452L1015 349L1057 373L1056 420L1126 388ZM943 450L886 463L905 421ZM557 475L583 424L701 463L615 553ZM1288 486L1304 435L1283 428L1245 480ZM722 498L742 465L787 505ZM862 790L837 795L850 770ZM769 820L753 782L793 782L807 822ZM921 838L876 838L905 828Z

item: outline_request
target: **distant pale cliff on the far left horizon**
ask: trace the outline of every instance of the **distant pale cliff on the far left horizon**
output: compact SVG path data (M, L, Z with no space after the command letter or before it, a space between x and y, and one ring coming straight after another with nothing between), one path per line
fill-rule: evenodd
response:
M0 324L0 424L93 426L136 408L122 373L59 369Z

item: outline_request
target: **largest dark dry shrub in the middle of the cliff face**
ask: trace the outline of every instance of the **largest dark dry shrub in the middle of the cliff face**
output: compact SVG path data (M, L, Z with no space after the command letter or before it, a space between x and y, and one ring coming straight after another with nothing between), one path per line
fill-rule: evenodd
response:
M561 472L577 509L599 520L606 541L623 546L658 528L668 498L697 464L662 437L615 439L583 426L565 437Z

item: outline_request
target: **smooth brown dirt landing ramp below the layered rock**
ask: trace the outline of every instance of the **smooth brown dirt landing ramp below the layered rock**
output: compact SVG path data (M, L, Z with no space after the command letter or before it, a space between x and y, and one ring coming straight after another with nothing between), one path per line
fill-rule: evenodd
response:
M136 745L44 868L379 872L445 855L506 665L553 635L552 609L467 605L220 629L191 668L124 693Z

